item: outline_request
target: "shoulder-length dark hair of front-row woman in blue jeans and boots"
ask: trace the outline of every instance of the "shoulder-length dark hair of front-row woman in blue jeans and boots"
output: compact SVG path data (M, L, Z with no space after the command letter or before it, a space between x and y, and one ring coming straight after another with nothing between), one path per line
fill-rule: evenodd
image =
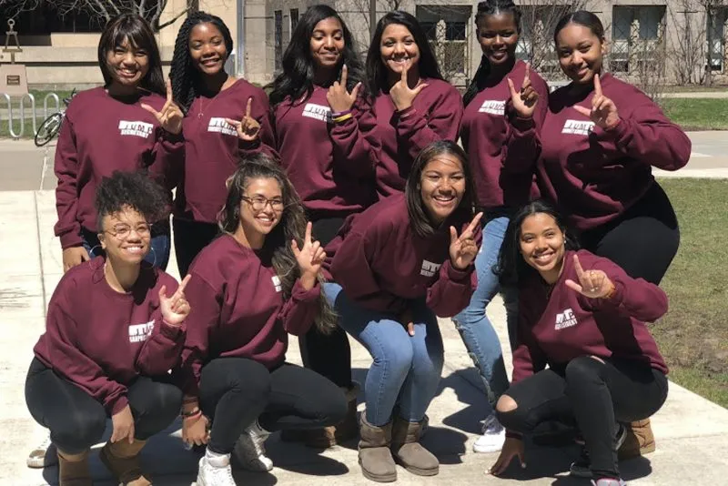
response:
M462 195L460 205L455 208L455 211L450 215L449 219L453 222L461 220L463 223L470 221L475 209L475 179L472 177L472 170L468 163L468 155L458 144L450 140L437 140L432 142L427 147L424 147L417 158L415 158L410 171L410 177L407 177L407 184L404 188L404 197L407 203L407 213L410 216L410 225L414 232L422 238L430 237L437 231L437 228L430 220L430 216L428 216L425 203L422 201L422 172L433 158L442 154L448 154L458 158L462 166L462 174L465 177L465 194Z

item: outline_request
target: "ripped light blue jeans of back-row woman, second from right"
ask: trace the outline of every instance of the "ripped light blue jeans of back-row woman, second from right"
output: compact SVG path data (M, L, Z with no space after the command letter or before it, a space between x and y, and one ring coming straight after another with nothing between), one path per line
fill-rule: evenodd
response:
M475 258L475 270L478 274L478 289L472 294L470 305L455 316L455 327L460 331L460 337L468 349L480 378L485 384L488 401L491 409L508 390L508 376L503 364L503 350L501 340L493 329L485 309L490 300L501 290L506 307L508 320L508 333L511 342L515 336L516 321L518 319L518 289L504 288L493 271L493 265L498 262L498 254L508 228L509 218L501 216L490 218L483 223L483 242L480 252Z

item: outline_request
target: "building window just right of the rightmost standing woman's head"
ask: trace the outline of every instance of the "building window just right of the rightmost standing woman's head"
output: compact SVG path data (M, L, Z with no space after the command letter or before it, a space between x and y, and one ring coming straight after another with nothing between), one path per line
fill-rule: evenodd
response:
M612 9L612 71L634 74L664 68L665 6L619 5Z

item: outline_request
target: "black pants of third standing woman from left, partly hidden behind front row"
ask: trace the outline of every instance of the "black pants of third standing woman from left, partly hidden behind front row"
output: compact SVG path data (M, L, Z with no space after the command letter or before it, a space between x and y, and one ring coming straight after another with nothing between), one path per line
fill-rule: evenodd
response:
M313 223L313 238L325 247L329 244L344 218L323 218ZM329 335L324 335L312 327L305 335L298 338L303 365L333 381L337 386L351 386L351 347L344 329L337 327Z

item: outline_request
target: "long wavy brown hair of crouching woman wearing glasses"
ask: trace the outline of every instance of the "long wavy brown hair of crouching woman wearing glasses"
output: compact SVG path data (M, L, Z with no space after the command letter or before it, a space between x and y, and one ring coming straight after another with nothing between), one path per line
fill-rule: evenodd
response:
M290 247L290 241L296 240L298 248L303 248L303 237L306 233L306 211L300 197L290 180L283 172L278 161L263 153L243 158L235 174L229 180L225 206L217 217L218 226L224 233L232 234L240 225L240 203L251 179L272 178L278 182L283 196L283 215L278 225L268 234L263 248L273 254L273 268L280 278L283 299L289 299L293 285L300 277L298 261ZM324 278L319 274L319 285ZM319 314L316 327L320 332L329 334L337 326L337 315L323 292L319 297Z

